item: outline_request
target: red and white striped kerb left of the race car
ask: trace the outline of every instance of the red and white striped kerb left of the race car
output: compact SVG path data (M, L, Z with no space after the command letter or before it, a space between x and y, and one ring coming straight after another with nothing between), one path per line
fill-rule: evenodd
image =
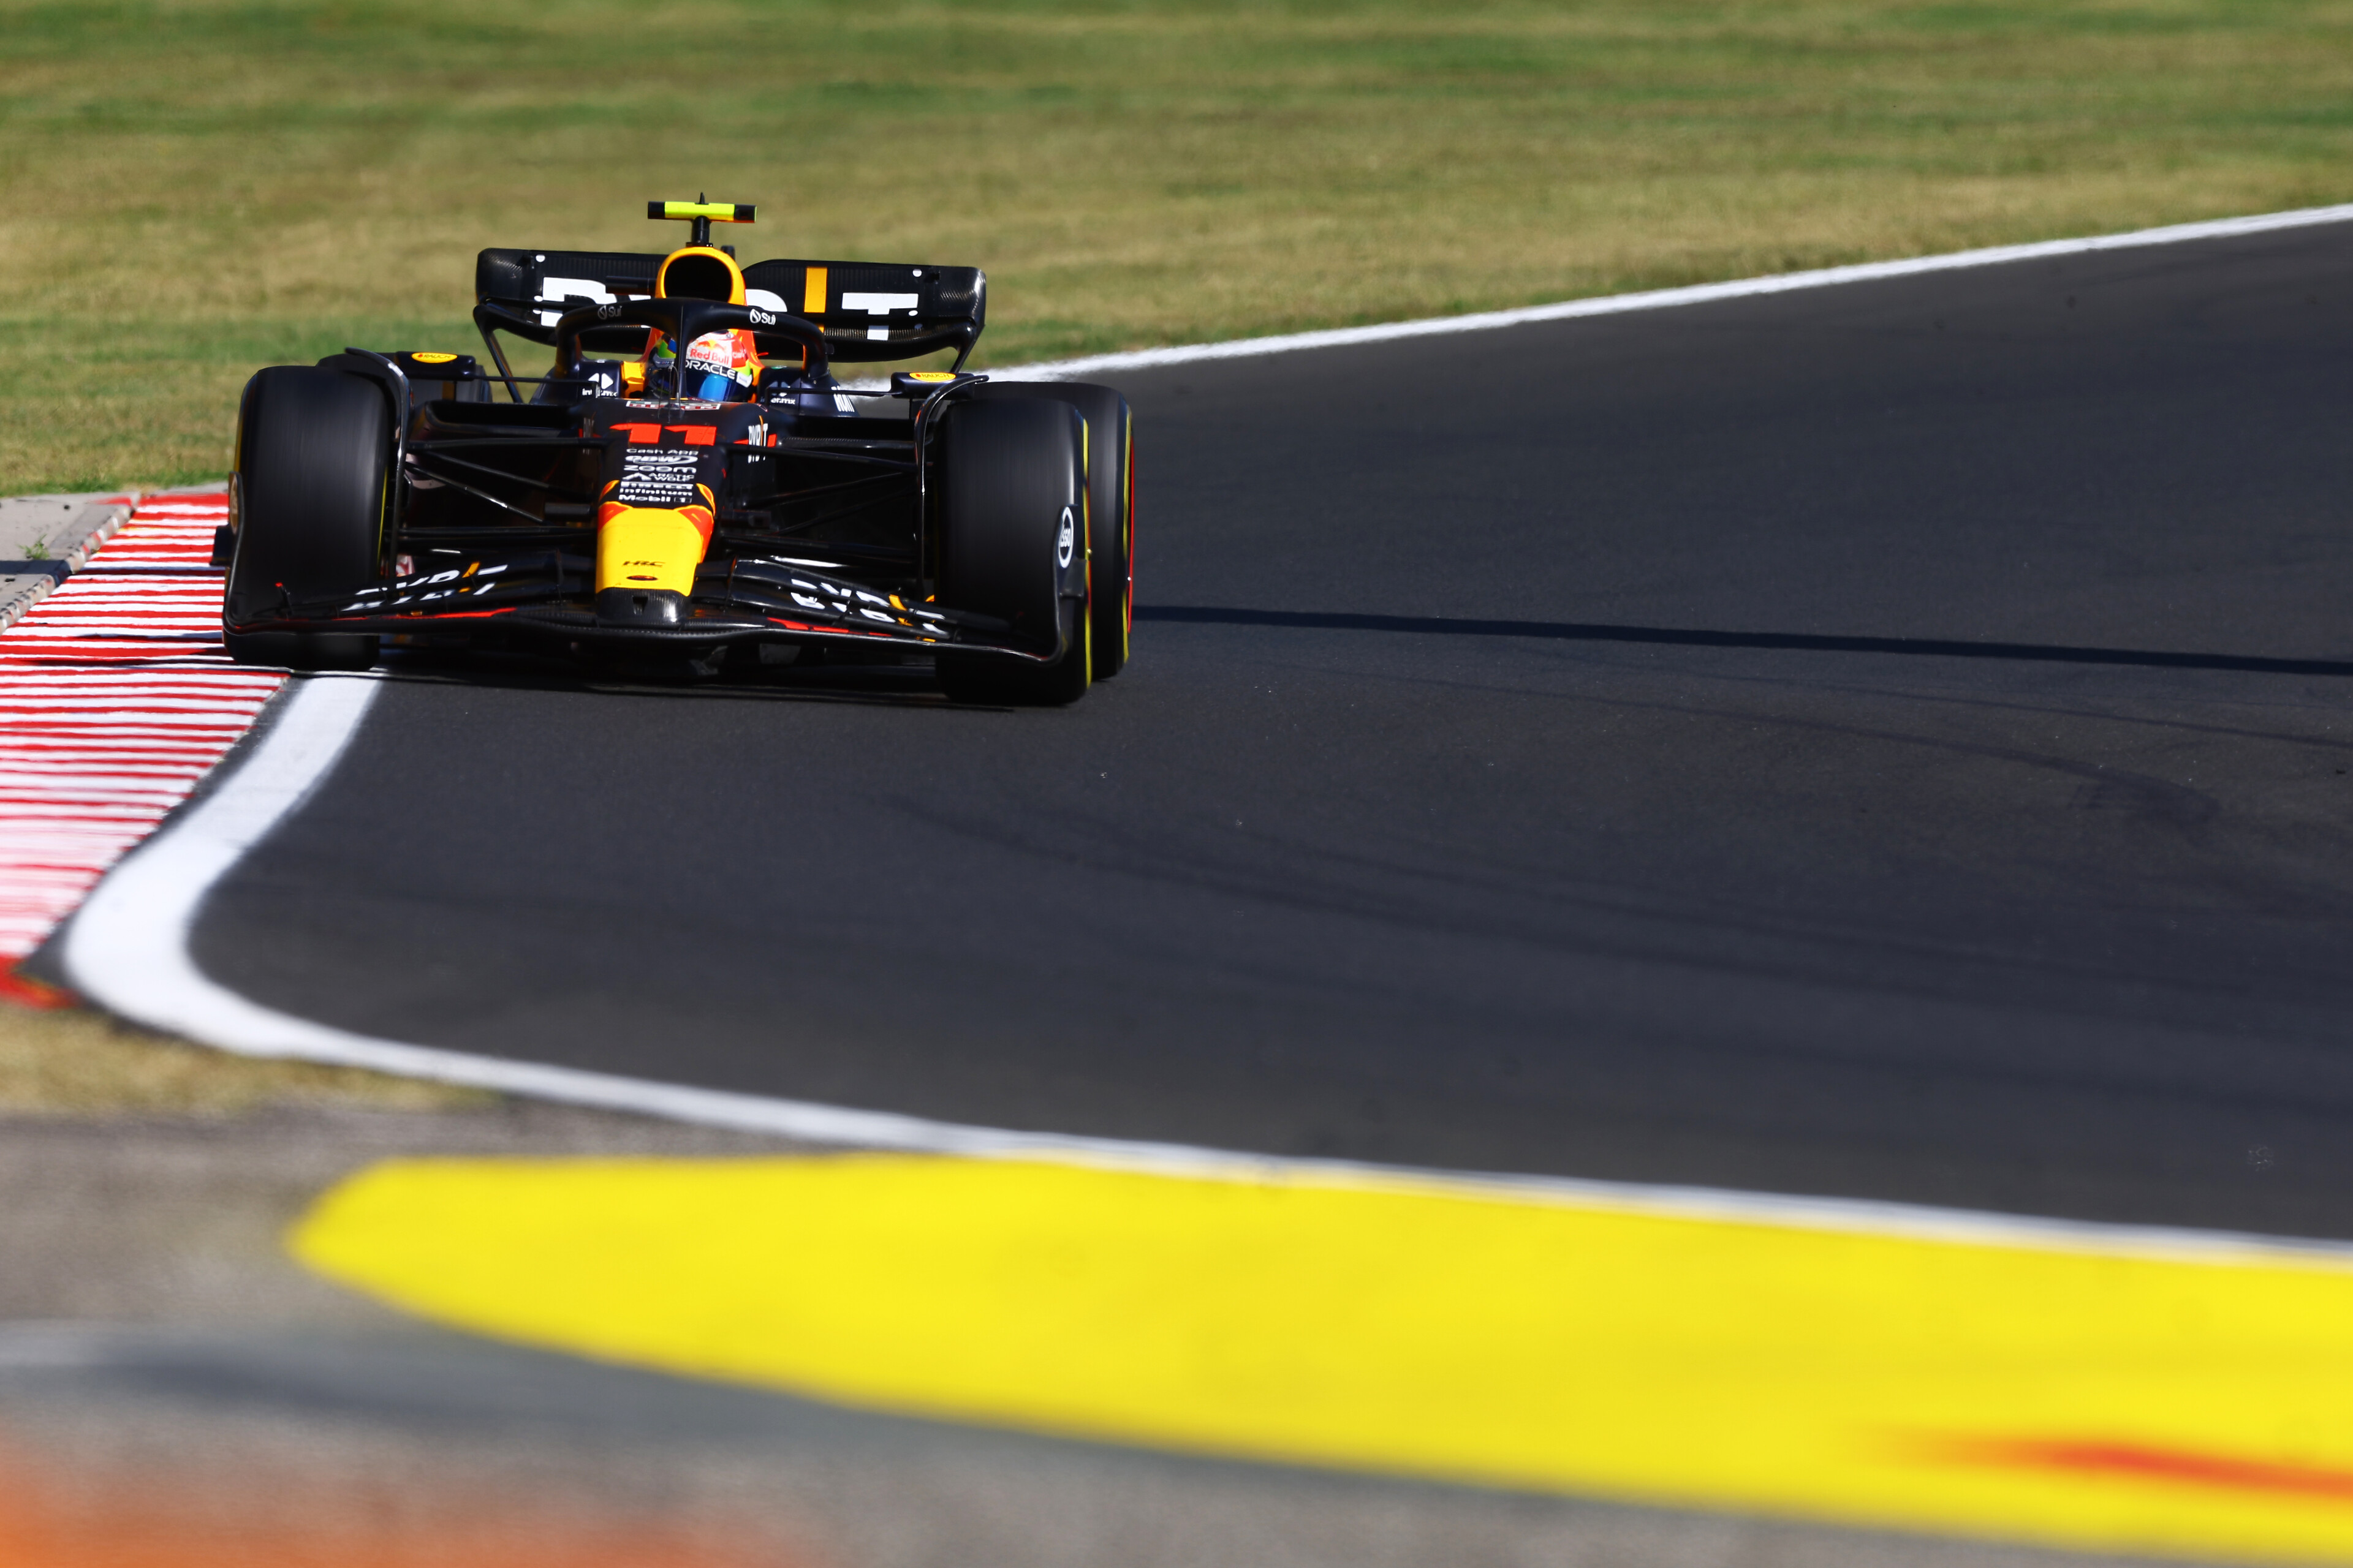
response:
M285 684L228 663L212 531L228 496L155 496L0 632L0 992Z

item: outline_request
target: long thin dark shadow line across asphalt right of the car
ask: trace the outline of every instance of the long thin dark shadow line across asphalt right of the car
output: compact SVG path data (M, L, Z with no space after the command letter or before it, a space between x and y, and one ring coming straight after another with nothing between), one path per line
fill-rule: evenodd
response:
M1925 658L2005 658L2073 665L2153 665L2165 670L2240 670L2254 675L2353 675L2344 658L2268 658L2257 654L2174 654L2162 649L2078 649L2047 642L1967 642L1951 637L1824 637L1812 632L1713 632L1666 625L1586 621L1478 621L1466 616L1367 616L1299 609L1221 609L1139 604L1136 621L1193 625L1280 625L1320 632L1417 632L1424 637L1541 637L1551 642L1649 642L1687 649L1798 649L1809 654L1911 654Z

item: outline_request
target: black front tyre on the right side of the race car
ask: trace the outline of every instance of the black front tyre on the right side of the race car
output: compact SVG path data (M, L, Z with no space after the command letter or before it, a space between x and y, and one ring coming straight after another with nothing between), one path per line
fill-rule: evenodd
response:
M939 421L939 602L995 616L1052 663L939 654L958 703L1075 703L1092 679L1085 421L1059 400L958 402Z

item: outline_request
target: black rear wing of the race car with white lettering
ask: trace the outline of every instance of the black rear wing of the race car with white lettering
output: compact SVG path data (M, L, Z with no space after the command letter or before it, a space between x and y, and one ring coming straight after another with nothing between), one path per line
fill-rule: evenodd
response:
M473 263L473 317L485 334L496 327L553 343L565 310L652 296L656 270L661 256L633 252L482 252ZM840 362L913 360L953 348L962 367L988 313L988 277L972 266L755 261L744 268L744 289L748 306L824 327L826 348ZM591 329L581 346L635 353L645 348L645 327ZM776 350L798 355L800 346L776 339Z

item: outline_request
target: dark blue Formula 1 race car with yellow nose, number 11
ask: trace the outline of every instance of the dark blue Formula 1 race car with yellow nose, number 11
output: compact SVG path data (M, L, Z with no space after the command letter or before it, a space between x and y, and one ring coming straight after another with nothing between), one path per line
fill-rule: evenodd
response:
M1068 703L1118 675L1127 400L967 374L976 268L746 268L711 223L751 207L647 216L694 223L692 242L480 254L496 374L348 348L247 383L214 545L233 658L365 668L393 639L715 672L882 651L929 656L951 698L984 703ZM553 348L548 374L515 376L499 334ZM941 350L953 369L887 393L833 376Z

